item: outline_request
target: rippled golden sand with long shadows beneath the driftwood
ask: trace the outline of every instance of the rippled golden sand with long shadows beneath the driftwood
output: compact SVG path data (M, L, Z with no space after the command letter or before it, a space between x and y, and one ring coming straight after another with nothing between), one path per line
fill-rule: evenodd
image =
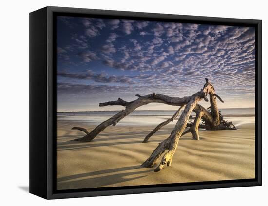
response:
M141 143L155 127L110 126L92 142L73 141L83 132L73 126L84 122L57 122L57 189L154 185L255 178L255 127L240 125L236 131L199 130L200 140L187 134L179 140L171 167L160 172L140 165L167 138L167 125ZM159 160L158 160L159 162Z

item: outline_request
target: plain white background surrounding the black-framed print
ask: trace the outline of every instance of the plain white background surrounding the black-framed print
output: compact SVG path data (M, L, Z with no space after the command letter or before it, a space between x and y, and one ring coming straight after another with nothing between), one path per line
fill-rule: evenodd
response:
M29 12L65 6L263 20L263 105L268 105L268 12L265 0L2 0L0 12L0 204L5 205L266 205L267 131L263 131L263 186L44 200L29 182ZM268 116L264 109L263 116ZM268 120L263 118L263 127ZM265 190L267 190L265 192Z

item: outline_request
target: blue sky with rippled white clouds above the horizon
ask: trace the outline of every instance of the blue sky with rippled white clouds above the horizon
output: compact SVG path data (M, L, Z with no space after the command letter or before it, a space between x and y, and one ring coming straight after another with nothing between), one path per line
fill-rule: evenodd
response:
M191 96L209 78L219 108L255 107L255 29L57 17L57 111L122 110L100 102L155 92ZM200 102L208 106L204 100ZM139 110L176 110L151 103Z

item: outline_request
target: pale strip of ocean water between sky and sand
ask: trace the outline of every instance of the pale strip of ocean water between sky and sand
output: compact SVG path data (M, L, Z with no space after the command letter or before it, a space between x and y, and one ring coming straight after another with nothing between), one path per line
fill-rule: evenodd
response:
M232 121L235 126L255 122L255 108L230 108L219 109L224 118ZM95 111L95 112L58 112L57 120L86 122L90 125L98 125L109 119L119 111ZM157 125L172 117L176 111L172 110L137 110L123 118L118 125ZM192 116L195 113L192 112ZM173 121L170 124L175 124Z

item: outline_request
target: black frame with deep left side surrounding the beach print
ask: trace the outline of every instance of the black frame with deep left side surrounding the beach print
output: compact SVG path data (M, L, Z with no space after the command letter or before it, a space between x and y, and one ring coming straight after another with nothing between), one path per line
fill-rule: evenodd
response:
M256 31L255 178L149 186L56 190L56 15L240 25ZM260 186L262 183L261 20L45 7L30 13L30 193L46 199Z

